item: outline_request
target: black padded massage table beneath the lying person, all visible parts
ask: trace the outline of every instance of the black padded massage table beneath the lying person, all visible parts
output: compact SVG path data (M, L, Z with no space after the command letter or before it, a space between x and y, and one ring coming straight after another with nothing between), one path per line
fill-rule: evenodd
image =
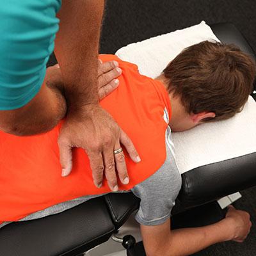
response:
M236 44L255 58L252 48L233 24L214 24L211 28L221 42ZM53 64L52 60L49 65ZM256 94L252 96L256 100ZM182 189L172 212L173 227L196 227L223 218L216 200L255 186L255 170L256 152L182 174ZM0 256L84 255L115 234L139 204L132 193L112 193L60 214L11 223L0 229ZM203 216L198 215L199 209ZM145 255L143 244L134 246L132 237L125 237L124 244L129 248L127 255Z

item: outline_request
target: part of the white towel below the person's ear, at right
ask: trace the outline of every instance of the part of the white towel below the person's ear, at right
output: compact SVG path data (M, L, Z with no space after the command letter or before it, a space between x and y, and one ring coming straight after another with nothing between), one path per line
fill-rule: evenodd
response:
M234 117L172 135L180 173L256 152L256 102L250 96Z

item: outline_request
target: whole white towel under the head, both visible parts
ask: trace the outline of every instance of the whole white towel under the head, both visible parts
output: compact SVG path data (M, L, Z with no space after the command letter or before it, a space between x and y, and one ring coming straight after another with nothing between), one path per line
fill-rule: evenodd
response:
M127 45L116 55L138 65L141 74L154 78L182 49L204 40L220 41L202 21L190 28ZM180 173L256 152L256 102L249 97L243 111L233 118L173 132L172 138Z

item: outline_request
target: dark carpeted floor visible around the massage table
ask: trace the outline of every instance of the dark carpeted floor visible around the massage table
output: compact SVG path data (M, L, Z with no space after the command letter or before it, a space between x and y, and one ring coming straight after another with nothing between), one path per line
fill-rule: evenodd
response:
M108 0L100 52L114 53L120 47L151 36L186 28L205 20L207 24L232 22L256 51L255 0ZM252 231L243 244L227 242L207 248L196 256L256 255L256 188L241 192L236 206L252 215Z

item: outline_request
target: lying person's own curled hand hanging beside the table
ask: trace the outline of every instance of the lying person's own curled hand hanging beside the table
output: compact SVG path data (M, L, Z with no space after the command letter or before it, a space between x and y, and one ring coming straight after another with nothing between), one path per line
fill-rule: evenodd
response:
M228 206L226 220L232 220L233 234L232 239L238 243L242 243L250 233L252 222L250 221L250 214L245 211L235 209L234 206Z

